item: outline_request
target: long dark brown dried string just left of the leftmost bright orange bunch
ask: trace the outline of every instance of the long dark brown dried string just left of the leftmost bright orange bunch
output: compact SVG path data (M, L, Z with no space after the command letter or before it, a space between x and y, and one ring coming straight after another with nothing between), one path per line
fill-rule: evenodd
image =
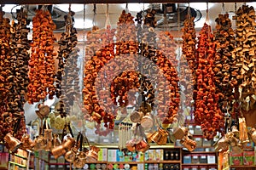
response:
M12 26L10 29L11 40L10 40L10 63L12 68L10 71L13 78L9 90L12 92L8 95L8 109L13 116L15 116L15 127L16 132L14 134L15 138L21 139L23 134L26 132L26 123L24 117L23 106L26 102L26 91L28 80L28 60L30 55L28 50L30 49L29 41L27 38L28 32L27 28L27 11L26 8L20 8L17 10L17 23L12 21Z

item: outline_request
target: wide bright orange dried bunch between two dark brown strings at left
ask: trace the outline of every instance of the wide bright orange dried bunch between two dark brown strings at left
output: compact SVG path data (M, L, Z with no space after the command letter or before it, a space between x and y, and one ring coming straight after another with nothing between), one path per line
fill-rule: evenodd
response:
M32 19L32 54L29 60L28 103L55 95L55 24L48 10L38 9Z

